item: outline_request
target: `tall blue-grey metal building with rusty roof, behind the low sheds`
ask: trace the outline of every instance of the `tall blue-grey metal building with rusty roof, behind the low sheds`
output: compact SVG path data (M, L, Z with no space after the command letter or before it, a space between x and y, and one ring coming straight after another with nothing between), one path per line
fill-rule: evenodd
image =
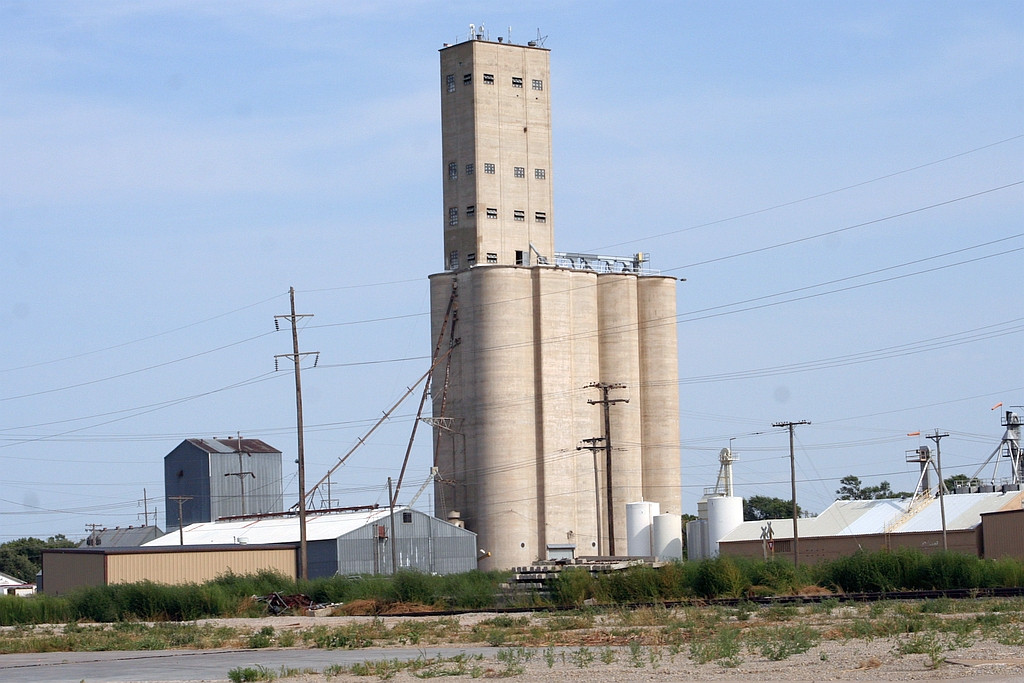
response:
M167 528L284 511L281 451L256 438L189 438L164 457Z

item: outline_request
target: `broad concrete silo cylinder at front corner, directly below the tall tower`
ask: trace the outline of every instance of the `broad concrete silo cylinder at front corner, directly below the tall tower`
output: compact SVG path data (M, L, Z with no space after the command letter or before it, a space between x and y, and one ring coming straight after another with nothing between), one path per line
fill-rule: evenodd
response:
M537 415L534 372L532 283L527 268L487 266L459 279L459 296L472 290L471 310L460 305L465 381L466 468L476 474L475 509L466 526L478 547L524 565L544 555L538 539ZM465 316L468 324L462 324ZM458 416L455 416L458 417ZM466 512L465 510L463 512ZM472 524L470 523L472 521ZM475 526L475 528L474 528ZM483 561L481 568L490 568Z

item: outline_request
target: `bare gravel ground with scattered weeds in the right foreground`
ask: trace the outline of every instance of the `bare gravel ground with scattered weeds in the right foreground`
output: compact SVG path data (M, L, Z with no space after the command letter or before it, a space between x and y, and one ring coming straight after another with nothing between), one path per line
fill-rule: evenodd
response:
M464 630L471 629L481 621L492 618L493 613L463 614L459 621ZM847 618L850 616L847 615ZM264 626L281 629L307 629L314 625L341 626L353 622L372 621L370 616L339 617L267 617L264 620L213 620L224 626L258 631ZM408 618L434 617L381 617L385 624ZM756 618L756 617L755 617ZM786 622L800 624L807 616ZM813 617L820 628L820 615ZM838 615L837 618L842 618ZM538 620L543 624L543 620ZM597 631L600 631L598 629ZM579 637L579 634L577 634ZM565 642L565 632L553 633L551 642L558 646L553 652L546 647L504 648L505 659L488 656L481 660L471 660L464 665L464 671L457 674L453 663L439 665L434 670L423 670L419 675L409 670L378 672L370 676L341 674L335 676L303 675L287 680L301 683L331 681L421 681L423 678L449 678L468 680L472 678L512 678L515 680L559 680L604 683L611 681L918 681L918 680L959 680L1015 681L1024 683L1024 648L1002 645L993 640L967 638L954 642L943 634L938 637L945 643L940 653L944 661L933 666L928 654L898 654L900 642L906 638L874 638L871 640L822 640L810 650L795 654L780 661L767 659L758 652L746 649L734 657L732 663L696 664L689 656L687 647L668 646L606 647L603 644L581 645L580 641ZM596 640L596 639L595 639ZM424 645L422 655L430 658L431 647L442 643ZM459 643L444 643L447 647L459 647ZM462 646L467 646L465 643ZM408 645L406 647L409 647ZM508 655L516 659L509 663ZM426 675L425 675L426 674Z

